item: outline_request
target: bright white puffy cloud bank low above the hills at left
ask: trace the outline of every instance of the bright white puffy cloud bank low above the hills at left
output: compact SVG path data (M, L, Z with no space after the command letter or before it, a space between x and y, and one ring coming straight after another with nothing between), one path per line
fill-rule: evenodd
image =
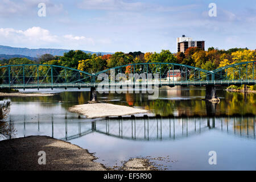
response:
M79 48L82 45L94 45L92 38L85 36L74 36L72 34L57 36L52 35L49 30L41 27L31 27L27 30L15 30L14 28L0 28L0 42L16 46L49 46L53 45L71 45ZM12 46L15 46L12 45Z

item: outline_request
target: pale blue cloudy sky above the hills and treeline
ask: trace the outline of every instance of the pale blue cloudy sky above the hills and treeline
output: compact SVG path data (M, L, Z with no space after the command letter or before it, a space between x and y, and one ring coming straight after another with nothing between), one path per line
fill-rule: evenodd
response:
M0 0L0 45L11 47L176 52L186 35L206 49L255 49L255 31L255 0Z

